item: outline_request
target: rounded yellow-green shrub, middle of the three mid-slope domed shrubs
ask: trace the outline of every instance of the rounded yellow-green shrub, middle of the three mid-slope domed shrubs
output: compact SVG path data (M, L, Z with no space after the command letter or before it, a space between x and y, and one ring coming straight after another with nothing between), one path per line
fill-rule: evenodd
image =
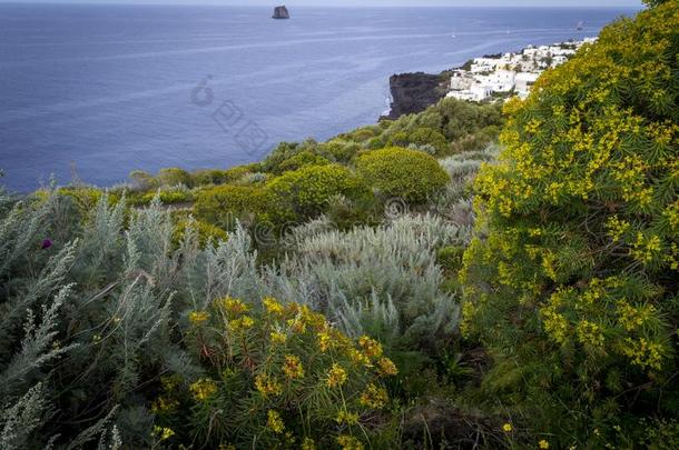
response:
M363 181L338 164L309 166L286 172L267 184L281 204L287 206L298 218L318 216L337 194L347 199L365 198L368 190Z

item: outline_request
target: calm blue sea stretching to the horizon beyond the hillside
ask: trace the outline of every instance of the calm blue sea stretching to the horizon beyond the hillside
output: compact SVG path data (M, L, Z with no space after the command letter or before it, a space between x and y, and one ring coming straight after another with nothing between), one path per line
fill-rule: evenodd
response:
M373 123L388 77L594 36L626 9L0 4L0 169L27 191L226 168ZM584 29L577 31L579 21Z

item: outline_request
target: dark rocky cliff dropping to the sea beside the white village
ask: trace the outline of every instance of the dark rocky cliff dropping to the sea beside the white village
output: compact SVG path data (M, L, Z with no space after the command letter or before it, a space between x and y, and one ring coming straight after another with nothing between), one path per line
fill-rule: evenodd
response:
M424 72L394 74L388 81L393 101L386 119L424 111L445 97L447 83L442 74Z

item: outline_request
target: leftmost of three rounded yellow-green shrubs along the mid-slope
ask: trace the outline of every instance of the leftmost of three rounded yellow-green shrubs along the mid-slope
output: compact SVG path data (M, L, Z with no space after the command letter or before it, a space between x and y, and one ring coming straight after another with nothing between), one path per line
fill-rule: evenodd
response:
M262 187L225 184L206 189L196 196L196 218L225 230L233 230L236 221L278 224L285 212L273 191Z

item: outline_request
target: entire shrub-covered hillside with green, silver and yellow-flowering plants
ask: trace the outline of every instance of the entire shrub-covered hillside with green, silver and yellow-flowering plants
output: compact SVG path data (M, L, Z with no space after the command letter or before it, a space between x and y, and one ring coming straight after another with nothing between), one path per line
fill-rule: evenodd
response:
M679 447L679 1L525 101L0 191L0 448Z

